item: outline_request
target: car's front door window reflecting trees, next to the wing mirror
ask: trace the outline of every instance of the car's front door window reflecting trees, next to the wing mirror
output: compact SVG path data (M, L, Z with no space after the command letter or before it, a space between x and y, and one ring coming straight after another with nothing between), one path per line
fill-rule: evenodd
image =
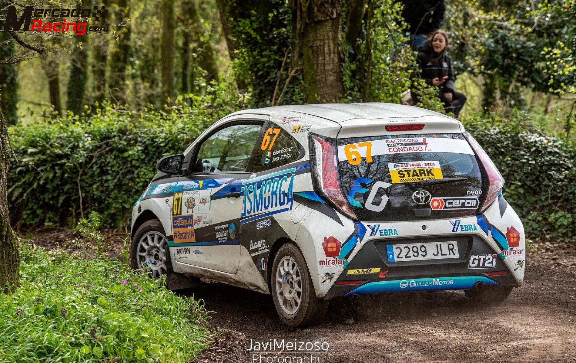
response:
M233 125L218 130L200 145L195 172L246 171L262 125Z

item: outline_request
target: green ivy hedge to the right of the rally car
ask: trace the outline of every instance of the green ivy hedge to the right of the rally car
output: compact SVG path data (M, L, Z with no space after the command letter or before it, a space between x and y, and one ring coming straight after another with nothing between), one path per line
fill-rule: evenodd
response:
M526 114L475 115L466 129L506 180L503 195L530 240L573 241L576 226L576 142L526 129Z

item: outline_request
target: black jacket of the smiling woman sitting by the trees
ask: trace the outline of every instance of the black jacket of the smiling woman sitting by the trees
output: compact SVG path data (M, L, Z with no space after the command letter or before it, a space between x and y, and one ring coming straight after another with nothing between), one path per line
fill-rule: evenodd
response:
M448 76L448 79L442 83L440 88L440 93L454 93L456 88L454 83L456 79L454 78L454 68L452 67L452 59L446 52L442 54L437 61L433 60L434 51L430 48L430 45L426 42L424 47L418 49L418 56L416 56L416 62L420 66L422 72L420 75L426 80L426 83L432 84L433 78L442 78ZM434 53L434 58L437 57Z

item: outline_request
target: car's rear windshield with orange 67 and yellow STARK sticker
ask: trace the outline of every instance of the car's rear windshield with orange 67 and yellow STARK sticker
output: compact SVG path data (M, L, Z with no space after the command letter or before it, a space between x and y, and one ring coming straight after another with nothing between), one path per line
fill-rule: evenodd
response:
M338 139L344 195L362 221L411 221L476 214L482 172L461 134ZM449 183L418 181L460 178Z

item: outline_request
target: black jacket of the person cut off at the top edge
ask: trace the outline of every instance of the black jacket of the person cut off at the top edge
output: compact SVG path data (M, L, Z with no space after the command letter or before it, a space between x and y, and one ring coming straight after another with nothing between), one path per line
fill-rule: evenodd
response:
M396 0L404 5L402 17L410 34L427 34L440 28L444 20L444 0Z

